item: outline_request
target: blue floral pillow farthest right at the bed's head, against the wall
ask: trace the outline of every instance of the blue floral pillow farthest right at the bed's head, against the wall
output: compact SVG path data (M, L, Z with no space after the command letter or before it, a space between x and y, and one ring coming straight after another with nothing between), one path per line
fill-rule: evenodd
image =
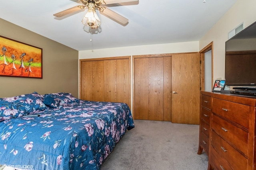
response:
M71 93L50 93L50 94L45 94L44 95L44 100L48 97L52 97L52 98L57 98L60 99L60 105L62 104L72 104L74 102L80 102L80 100L78 98L75 98L74 96L72 96Z

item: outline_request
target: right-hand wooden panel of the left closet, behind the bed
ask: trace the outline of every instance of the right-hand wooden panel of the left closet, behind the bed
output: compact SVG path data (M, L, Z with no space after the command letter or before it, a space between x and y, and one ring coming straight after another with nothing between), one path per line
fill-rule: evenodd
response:
M104 61L104 101L130 106L130 60Z

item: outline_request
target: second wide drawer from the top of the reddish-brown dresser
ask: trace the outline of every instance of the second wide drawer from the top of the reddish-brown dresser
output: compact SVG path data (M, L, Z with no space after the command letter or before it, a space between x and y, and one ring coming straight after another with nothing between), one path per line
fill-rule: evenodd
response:
M212 114L212 129L218 132L222 138L230 141L234 146L248 155L248 133L228 121Z

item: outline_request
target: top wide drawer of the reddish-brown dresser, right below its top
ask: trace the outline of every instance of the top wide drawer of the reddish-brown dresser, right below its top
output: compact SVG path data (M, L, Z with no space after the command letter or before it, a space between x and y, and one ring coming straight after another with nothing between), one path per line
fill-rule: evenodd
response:
M212 112L249 128L250 106L213 98Z

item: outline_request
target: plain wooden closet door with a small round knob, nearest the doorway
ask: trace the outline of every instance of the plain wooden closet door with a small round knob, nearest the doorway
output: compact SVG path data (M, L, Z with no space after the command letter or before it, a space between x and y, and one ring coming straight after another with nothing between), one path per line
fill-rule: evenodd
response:
M172 123L199 124L200 55L172 55Z

